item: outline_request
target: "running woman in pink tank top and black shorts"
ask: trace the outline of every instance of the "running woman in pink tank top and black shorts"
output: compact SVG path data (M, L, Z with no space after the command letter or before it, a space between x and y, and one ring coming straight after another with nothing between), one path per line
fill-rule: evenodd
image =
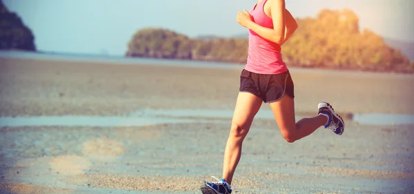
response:
M224 152L223 178L204 182L203 193L231 193L231 182L246 137L262 101L270 104L282 136L293 143L324 126L337 135L344 132L344 121L332 106L319 103L316 117L295 122L293 80L282 60L281 46L297 29L285 9L284 0L259 0L250 10L238 12L237 22L249 30L247 64L240 75L240 88L233 121Z

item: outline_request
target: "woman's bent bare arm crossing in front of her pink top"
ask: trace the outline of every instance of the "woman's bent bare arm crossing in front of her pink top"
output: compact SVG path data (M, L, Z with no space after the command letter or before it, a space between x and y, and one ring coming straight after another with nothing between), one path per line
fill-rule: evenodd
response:
M239 19L237 19L237 21L239 21L242 26L253 30L253 32L256 32L264 39L282 45L285 38L285 2L284 0L268 0L268 3L270 3L270 12L273 19L273 29L260 26L259 24L251 21L251 19L248 19L248 21L242 23L239 21ZM245 12L248 14L246 10ZM250 17L250 14L248 14L248 17Z

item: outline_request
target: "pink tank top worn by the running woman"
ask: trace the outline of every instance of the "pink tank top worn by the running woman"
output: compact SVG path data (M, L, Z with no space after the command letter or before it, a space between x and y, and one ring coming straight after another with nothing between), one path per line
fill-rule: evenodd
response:
M264 13L262 0L250 10L252 20L265 28L273 29L273 20ZM279 44L260 37L252 30L248 35L248 57L244 69L259 74L277 74L286 72L288 68L282 59L282 48Z

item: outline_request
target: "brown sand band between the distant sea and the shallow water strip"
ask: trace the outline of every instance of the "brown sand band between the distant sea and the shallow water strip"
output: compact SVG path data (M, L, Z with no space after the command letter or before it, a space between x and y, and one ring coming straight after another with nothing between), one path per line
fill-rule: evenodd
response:
M139 108L232 110L241 70L0 58L0 116L124 115ZM292 72L297 112L414 114L414 76ZM268 106L263 106L268 108Z

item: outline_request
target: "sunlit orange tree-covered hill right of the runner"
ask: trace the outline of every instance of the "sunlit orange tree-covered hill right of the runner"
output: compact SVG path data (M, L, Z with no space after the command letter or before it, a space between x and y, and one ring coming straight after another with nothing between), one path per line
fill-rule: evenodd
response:
M289 63L363 70L409 69L408 57L368 29L359 30L351 10L322 10L316 19L297 19L300 28L283 46ZM411 66L411 70L413 67Z

